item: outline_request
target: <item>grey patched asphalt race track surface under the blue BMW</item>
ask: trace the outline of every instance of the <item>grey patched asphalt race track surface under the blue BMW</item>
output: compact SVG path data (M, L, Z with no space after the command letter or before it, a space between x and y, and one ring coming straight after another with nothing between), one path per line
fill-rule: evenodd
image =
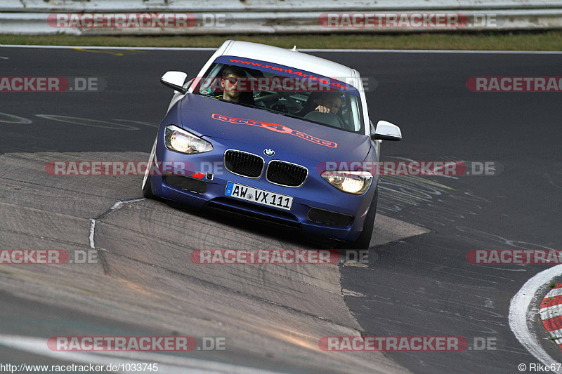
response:
M472 265L471 249L561 248L560 93L473 93L471 76L561 76L562 54L311 52L368 78L386 160L493 162L495 175L382 178L368 265L196 265L202 248L315 248L299 234L141 199L139 177L55 177L56 160L148 158L171 90L212 51L0 48L0 76L97 79L97 92L5 93L0 249L93 251L0 265L1 363L159 362L163 373L515 373L511 298L549 265ZM93 222L95 221L95 225ZM93 234L92 234L93 233ZM560 272L558 272L560 274ZM537 290L535 306L548 292ZM531 310L540 347L562 362ZM462 336L463 352L322 352L322 336ZM53 352L52 336L226 338L224 351ZM18 338L15 338L17 336ZM491 338L491 340L490 340ZM476 342L493 342L476 349ZM130 352L129 352L130 353Z

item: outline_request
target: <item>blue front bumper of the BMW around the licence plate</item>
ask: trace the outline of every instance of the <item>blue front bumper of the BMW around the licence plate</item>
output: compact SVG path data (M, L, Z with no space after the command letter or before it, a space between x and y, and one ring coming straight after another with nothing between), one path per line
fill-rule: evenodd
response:
M292 188L274 185L266 180L265 175L252 179L230 173L223 164L223 154L227 147L222 147L217 142L213 142L213 146L214 150L211 152L186 155L167 149L159 137L157 161L167 164L178 162L185 166L185 171L182 172L183 176L172 178L159 175L162 171L153 173L152 193L194 208L218 208L294 227L313 236L355 241L360 235L376 187L374 182L365 195L344 194L328 185L320 175L315 175L318 172L315 171L314 165L312 168L311 165L304 165L308 167L310 174L303 186ZM240 149L244 149L243 145ZM190 168L193 170L189 170ZM193 173L206 174L209 168L212 169L212 180L208 178L209 175L200 179L192 177ZM285 211L226 196L227 182L293 196L292 208ZM311 209L314 211L311 212ZM323 218L327 218L325 220L332 224L318 222Z

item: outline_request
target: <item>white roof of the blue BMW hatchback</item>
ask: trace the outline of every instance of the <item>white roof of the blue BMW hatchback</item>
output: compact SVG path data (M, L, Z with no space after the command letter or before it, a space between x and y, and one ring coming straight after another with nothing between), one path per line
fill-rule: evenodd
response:
M298 67L308 72L336 79L341 77L355 79L358 76L358 73L350 67L316 56L307 55L299 51L265 46L263 44L250 43L249 41L226 41L225 44L227 43L229 44L223 51L223 55L251 58L289 67Z

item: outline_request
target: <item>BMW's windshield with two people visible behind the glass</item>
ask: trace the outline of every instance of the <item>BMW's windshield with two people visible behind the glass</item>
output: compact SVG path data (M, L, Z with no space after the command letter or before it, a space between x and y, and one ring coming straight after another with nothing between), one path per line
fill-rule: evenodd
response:
M193 93L322 126L364 133L360 98L355 88L318 75L302 77L301 72L297 74L293 69L285 71L294 76L263 70L215 62L197 81ZM354 93L350 92L352 90Z

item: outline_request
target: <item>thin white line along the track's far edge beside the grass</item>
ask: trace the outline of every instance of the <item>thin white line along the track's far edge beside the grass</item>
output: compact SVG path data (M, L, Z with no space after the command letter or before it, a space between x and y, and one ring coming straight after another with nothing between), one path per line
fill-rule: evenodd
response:
M103 46L27 46L22 44L0 44L2 48L53 48L53 49L132 49L138 51L216 51L216 48L195 47L103 47ZM477 54L527 54L527 55L562 55L562 51L455 51L443 49L318 49L297 48L301 52L360 52L360 53L477 53Z

